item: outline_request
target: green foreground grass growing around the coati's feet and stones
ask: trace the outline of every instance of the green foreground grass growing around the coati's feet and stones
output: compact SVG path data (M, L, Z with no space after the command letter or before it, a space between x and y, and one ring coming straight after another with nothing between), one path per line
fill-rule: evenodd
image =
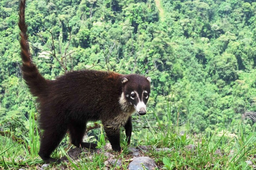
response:
M156 169L252 169L245 161L251 160L256 164L256 133L244 133L244 125L241 121L239 134L235 137L228 137L227 129L223 125L223 134L218 136L217 133L210 135L189 134L190 119L192 113L188 111L187 122L184 126L186 132L180 135L179 125L179 110L175 113L176 125L173 126L171 121L171 103L166 103L167 122L162 122L157 114L152 110L157 126L151 121L147 121L149 128L141 129L140 140L138 145L154 145L157 148L168 147L170 150L158 152L155 149L149 152L142 153L144 156L153 158L158 168ZM37 124L34 120L34 113L31 112L29 123L29 135L24 136L24 143L13 141L10 135L5 135L0 138L0 166L4 169L36 169L36 166L41 166L44 162L37 155L39 149L39 132ZM157 127L157 128L156 128ZM105 137L102 131L99 131L98 147L102 149L102 153L84 152L80 155L79 160L74 160L67 155L70 147L60 146L53 153L53 157L66 156L69 162L62 164L51 164L56 169L127 169L132 156L129 154L126 146L125 134L121 133L122 152L115 153L110 151L114 158L122 160L121 167L114 165L105 166L104 162L108 159L104 153ZM134 140L134 139L133 139ZM189 150L187 145L193 144L195 149ZM135 146L133 146L135 147ZM215 154L216 150L220 150L222 155ZM20 158L20 156L22 158Z

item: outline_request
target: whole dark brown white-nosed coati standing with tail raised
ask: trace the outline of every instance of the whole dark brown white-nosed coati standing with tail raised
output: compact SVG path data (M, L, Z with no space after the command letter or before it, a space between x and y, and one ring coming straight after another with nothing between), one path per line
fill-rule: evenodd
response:
M56 80L46 80L32 63L25 23L25 0L19 12L21 30L22 73L31 93L37 97L39 123L43 134L39 156L45 162L67 131L76 147L95 148L83 142L88 121L101 120L112 149L120 151L120 126L125 127L128 144L131 140L131 114L146 114L150 94L150 77L136 74L80 70L65 73Z

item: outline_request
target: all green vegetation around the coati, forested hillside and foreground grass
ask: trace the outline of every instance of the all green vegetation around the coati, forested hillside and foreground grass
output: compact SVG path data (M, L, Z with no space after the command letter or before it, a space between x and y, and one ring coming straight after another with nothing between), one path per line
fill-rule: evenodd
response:
M13 169L42 163L37 103L21 78L18 7L0 2L0 166ZM27 0L26 22L33 62L47 79L81 69L151 77L148 113L133 116L131 143L173 149L148 153L158 168L252 168L245 161L255 163L256 153L256 2ZM101 137L103 147L96 127L86 140ZM188 144L196 151L183 152ZM54 155L71 147L67 136ZM20 155L26 163L15 163ZM125 151L118 156L127 160ZM90 169L104 165L96 157Z

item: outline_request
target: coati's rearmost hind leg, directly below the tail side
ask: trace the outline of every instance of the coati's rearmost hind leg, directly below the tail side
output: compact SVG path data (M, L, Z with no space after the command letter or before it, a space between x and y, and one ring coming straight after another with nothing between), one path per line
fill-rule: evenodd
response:
M51 158L50 155L60 144L60 141L63 139L66 134L66 128L61 126L52 127L44 130L43 135L41 136L41 144L38 155L45 162L58 162L60 159Z

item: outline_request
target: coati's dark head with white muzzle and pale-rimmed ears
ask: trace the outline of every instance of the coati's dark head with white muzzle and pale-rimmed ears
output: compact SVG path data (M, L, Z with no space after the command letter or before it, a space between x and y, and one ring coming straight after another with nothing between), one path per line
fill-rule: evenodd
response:
M122 78L122 96L120 98L123 109L132 106L140 115L145 115L150 95L150 82L150 77L137 74L125 75Z

